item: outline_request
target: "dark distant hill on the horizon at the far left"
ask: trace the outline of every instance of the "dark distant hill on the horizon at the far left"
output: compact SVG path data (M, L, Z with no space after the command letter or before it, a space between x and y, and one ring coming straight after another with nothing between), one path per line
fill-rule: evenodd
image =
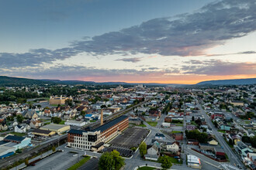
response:
M32 85L32 84L43 84L45 82L40 80L33 79L25 79L25 78L17 78L10 76L0 76L0 86L24 86L24 85Z

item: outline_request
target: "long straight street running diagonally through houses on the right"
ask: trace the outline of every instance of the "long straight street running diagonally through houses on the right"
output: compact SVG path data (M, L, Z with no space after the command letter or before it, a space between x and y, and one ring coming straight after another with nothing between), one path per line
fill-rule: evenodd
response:
M206 114L206 111L202 109L201 104L199 104L199 100L197 100L195 97L194 97L194 99L195 99L195 102L198 105L199 110L201 111L202 115L205 117L207 124L209 125L210 128L212 128L213 134L215 135L216 139L219 141L220 145L223 147L223 150L229 157L231 165L234 165L234 166L241 165L243 167L243 169L246 169L244 167L244 164L242 162L240 162L240 158L237 157L237 155L234 153L234 151L232 151L230 146L227 145L227 142L224 141L223 136L220 134L220 132L217 131L217 129L213 125L213 122L210 120L209 116Z

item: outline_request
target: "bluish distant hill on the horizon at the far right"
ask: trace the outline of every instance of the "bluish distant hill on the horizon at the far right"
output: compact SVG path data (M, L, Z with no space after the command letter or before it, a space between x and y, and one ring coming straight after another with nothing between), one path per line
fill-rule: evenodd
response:
M196 85L245 85L256 84L256 78L251 79L233 79L233 80L209 80L202 81Z

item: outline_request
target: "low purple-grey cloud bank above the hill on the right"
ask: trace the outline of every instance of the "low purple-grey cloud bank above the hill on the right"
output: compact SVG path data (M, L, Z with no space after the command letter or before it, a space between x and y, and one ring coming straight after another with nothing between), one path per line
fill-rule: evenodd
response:
M182 73L208 76L225 76L255 74L256 63L230 63L221 60L198 61L192 60L190 66L182 66Z

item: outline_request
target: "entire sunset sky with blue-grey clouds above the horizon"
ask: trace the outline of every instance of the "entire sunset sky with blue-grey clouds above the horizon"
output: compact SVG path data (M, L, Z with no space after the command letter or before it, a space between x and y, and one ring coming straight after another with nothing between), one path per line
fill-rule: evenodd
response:
M256 77L255 0L0 0L0 75L128 83Z

